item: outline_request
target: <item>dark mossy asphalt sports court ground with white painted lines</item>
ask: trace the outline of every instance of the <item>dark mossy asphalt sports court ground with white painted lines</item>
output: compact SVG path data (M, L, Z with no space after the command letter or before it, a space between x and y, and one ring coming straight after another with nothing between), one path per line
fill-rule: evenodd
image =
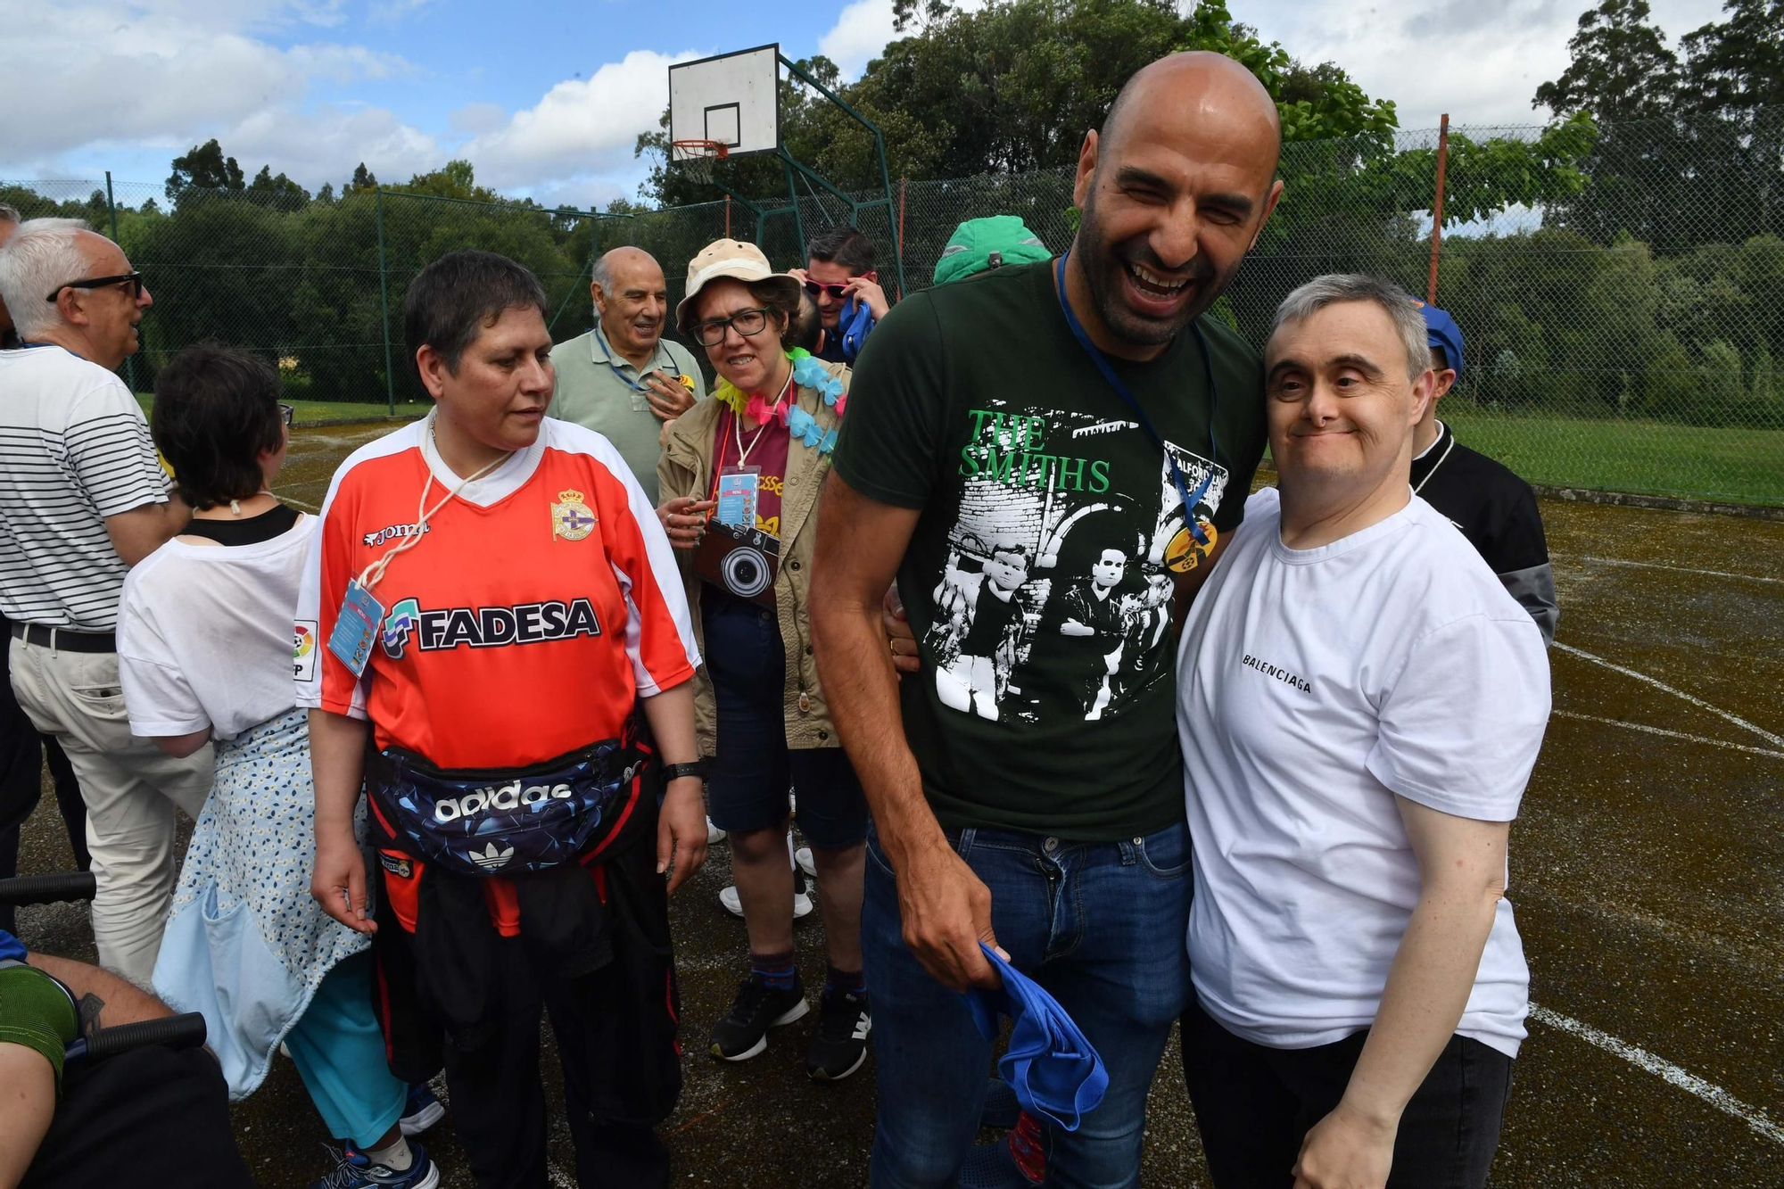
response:
M321 503L334 466L385 428L300 432L280 495ZM1536 1012L1491 1184L1784 1185L1784 523L1557 500L1541 512L1561 596L1556 714L1513 828L1509 893ZM70 864L48 796L21 850L25 873ZM676 1184L863 1185L871 1060L812 1084L806 1021L755 1060L705 1055L744 959L742 923L717 903L728 882L721 844L673 905L689 1050L665 1128ZM25 909L21 934L93 959L77 905ZM815 914L797 939L817 984ZM553 1060L548 1041L555 1098ZM325 1171L289 1062L235 1121L268 1189ZM426 1143L441 1184L469 1187L450 1116ZM574 1185L562 1123L551 1160L553 1184ZM1152 1089L1144 1180L1208 1184L1176 1044Z

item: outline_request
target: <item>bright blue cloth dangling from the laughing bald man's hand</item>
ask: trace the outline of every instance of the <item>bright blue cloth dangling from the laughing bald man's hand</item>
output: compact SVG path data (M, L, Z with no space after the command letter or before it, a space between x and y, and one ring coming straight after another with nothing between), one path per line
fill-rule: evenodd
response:
M997 1071L1024 1110L1076 1132L1079 1119L1095 1110L1108 1093L1110 1075L1103 1059L1058 1000L983 941L979 948L997 968L1003 989L974 987L965 993L972 1023L987 1041L997 1039L999 1014L1008 1014L1015 1025Z

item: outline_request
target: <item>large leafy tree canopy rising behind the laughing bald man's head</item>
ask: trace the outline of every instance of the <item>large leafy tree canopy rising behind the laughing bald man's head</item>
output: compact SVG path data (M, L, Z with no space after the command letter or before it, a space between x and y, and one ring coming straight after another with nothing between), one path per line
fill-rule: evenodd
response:
M972 177L1070 166L1120 86L1174 50L1215 50L1243 62L1277 100L1284 139L1377 136L1395 127L1393 104L1372 100L1342 68L1306 68L1277 43L1233 21L1224 0L1179 12L1172 0L1001 0L963 11L947 0L897 9L913 30L838 89L880 125L896 177ZM801 66L826 86L828 59ZM667 121L667 118L665 118ZM871 139L833 104L781 82L781 143L844 189L878 184ZM712 187L667 164L664 132L639 137L655 168L642 193L664 205L706 202ZM772 157L719 168L740 195L785 195Z

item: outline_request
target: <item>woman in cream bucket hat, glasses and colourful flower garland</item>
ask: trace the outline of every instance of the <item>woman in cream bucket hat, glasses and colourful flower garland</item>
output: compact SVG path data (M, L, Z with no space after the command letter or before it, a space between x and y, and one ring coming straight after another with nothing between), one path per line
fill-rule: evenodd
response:
M676 325L706 350L719 382L714 400L671 425L657 475L664 500L698 502L667 516L667 528L690 557L689 603L706 659L696 714L701 750L714 757L706 793L712 821L731 839L749 930L749 975L714 1025L712 1053L755 1057L769 1028L808 1010L792 955L792 787L830 953L806 1071L835 1080L867 1059L871 1028L860 973L867 802L824 711L806 593L849 373L787 350L797 309L799 282L772 271L755 245L719 239L689 262Z

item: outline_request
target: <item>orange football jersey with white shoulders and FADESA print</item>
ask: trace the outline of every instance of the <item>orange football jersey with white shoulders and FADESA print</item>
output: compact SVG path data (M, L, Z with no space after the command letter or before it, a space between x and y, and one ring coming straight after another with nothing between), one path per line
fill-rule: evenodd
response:
M432 416L335 471L298 600L298 705L369 718L380 748L439 768L500 769L612 739L640 694L694 675L681 577L649 500L605 437L546 418L391 561L355 678L328 648L348 582L414 536L423 487L434 507L457 486Z

